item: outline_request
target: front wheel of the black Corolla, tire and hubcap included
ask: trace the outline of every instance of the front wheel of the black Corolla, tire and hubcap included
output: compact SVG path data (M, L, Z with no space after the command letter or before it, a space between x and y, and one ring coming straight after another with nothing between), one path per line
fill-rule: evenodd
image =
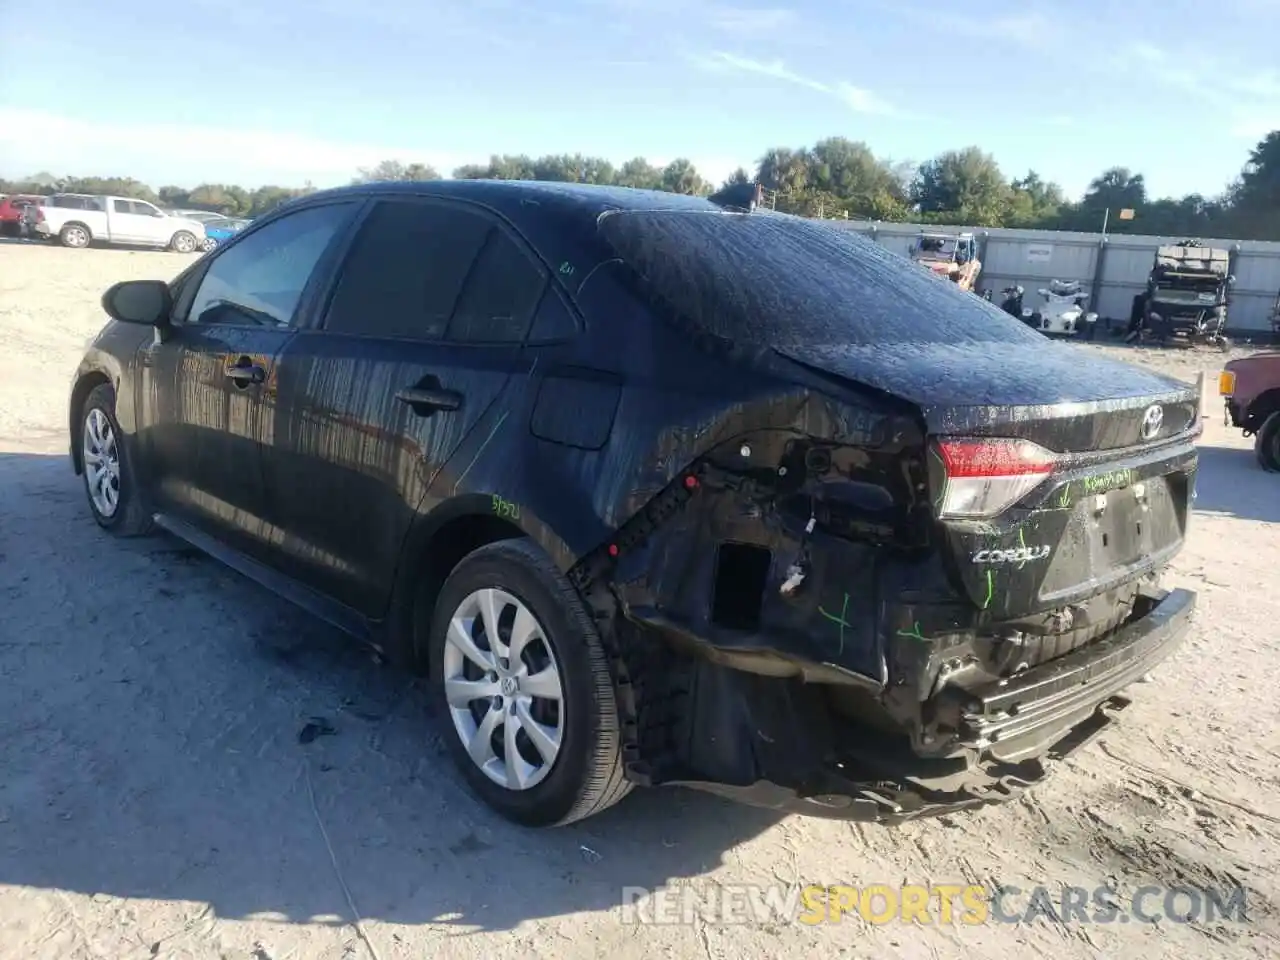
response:
M128 451L115 419L115 390L95 387L81 408L81 462L84 493L93 520L120 536L138 536L151 529Z

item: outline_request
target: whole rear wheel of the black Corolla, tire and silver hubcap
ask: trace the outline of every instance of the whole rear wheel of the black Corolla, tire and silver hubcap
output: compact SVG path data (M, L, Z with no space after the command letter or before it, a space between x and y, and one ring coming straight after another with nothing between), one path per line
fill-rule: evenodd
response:
M454 763L503 817L571 823L630 790L600 637L531 541L481 547L453 570L436 602L430 672Z

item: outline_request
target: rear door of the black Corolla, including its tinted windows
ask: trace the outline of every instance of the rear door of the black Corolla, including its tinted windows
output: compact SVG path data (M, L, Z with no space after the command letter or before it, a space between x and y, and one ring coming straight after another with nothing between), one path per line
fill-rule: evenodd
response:
M522 241L480 207L378 201L324 321L278 365L264 465L291 573L381 616L431 481L472 430L502 419L547 284Z

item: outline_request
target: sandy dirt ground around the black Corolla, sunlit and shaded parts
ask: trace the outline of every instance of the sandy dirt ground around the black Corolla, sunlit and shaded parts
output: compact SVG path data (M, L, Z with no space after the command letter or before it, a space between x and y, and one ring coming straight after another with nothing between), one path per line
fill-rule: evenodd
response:
M0 244L0 956L1280 951L1280 479L1222 426L1221 355L1076 347L1082 364L1110 349L1208 372L1170 577L1201 605L1115 731L1030 796L888 829L652 790L529 832L471 801L412 682L172 539L93 525L67 456L69 378L110 283L186 262ZM308 723L334 732L300 742ZM1120 901L1242 884L1249 922L637 925L622 909L623 887L841 882L1107 883Z

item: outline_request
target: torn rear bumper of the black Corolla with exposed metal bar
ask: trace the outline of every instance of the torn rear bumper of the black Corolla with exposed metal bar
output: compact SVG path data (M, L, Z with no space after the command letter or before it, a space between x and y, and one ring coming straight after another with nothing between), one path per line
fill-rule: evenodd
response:
M969 691L960 737L966 748L963 756L920 758L909 749L893 749L890 737L865 727L832 723L831 730L818 732L822 724L815 722L812 703L803 703L820 699L815 685L797 685L783 698L785 705L756 713L755 704L742 703L755 699L750 690L737 690L732 705L726 707L731 700L724 699L723 689L732 681L707 678L703 686L709 689L701 698L705 703L695 710L701 714L695 723L716 742L716 759L708 759L710 748L694 748L690 759L695 763L685 772L710 772L728 753L750 755L751 768L763 776L735 783L677 773L650 782L694 787L786 813L881 823L1004 803L1042 781L1048 762L1075 753L1110 726L1129 703L1120 691L1178 646L1194 608L1194 593L1171 590L1155 599L1146 616L1111 635ZM735 716L716 713L717 707ZM746 733L748 723L759 739ZM733 727L751 742L731 746L727 737ZM787 737L790 742L780 742ZM703 763L696 762L699 753Z

